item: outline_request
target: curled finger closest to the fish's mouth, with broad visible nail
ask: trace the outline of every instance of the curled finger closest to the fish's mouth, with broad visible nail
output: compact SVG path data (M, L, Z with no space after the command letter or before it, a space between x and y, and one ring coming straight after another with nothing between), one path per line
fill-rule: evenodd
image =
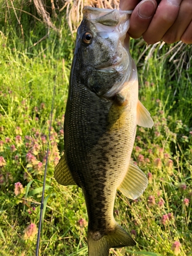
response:
M139 38L147 30L157 9L155 0L143 0L134 9L130 19L128 33L133 38Z

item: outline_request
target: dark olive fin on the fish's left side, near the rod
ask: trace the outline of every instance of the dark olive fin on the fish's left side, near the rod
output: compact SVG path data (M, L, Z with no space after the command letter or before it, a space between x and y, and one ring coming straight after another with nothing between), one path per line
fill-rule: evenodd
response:
M55 166L54 177L56 181L63 186L76 185L67 165L65 154L60 158L58 164Z

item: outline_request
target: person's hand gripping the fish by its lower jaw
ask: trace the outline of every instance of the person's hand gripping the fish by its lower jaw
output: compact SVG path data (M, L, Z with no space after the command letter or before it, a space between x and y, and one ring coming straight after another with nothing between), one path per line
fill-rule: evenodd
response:
M143 36L148 44L161 39L168 44L192 44L191 0L120 0L121 10L133 10L128 33Z

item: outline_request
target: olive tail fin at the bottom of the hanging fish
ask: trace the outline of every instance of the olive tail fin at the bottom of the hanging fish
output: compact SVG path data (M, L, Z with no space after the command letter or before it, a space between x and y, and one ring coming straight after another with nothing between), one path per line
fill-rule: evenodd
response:
M110 248L136 245L133 238L119 225L99 239L100 236L99 232L94 233L88 230L89 256L109 256Z

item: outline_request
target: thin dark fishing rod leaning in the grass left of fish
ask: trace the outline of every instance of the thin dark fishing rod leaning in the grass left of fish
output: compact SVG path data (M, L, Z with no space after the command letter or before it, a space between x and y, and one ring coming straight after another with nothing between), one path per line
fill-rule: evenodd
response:
M50 144L51 126L52 126L52 119L53 119L53 107L54 107L54 101L55 101L56 77L57 77L57 69L56 69L56 75L54 77L53 97L52 97L52 105L51 105L51 117L50 117L50 125L49 125L49 140L47 143L46 165L45 165L45 172L44 172L44 182L42 185L42 197L41 197L41 203L40 203L40 216L39 216L35 256L39 255L40 233L41 233L41 225L42 225L42 212L44 210L45 186L46 186L46 176L47 176L49 147L50 147L49 144Z

